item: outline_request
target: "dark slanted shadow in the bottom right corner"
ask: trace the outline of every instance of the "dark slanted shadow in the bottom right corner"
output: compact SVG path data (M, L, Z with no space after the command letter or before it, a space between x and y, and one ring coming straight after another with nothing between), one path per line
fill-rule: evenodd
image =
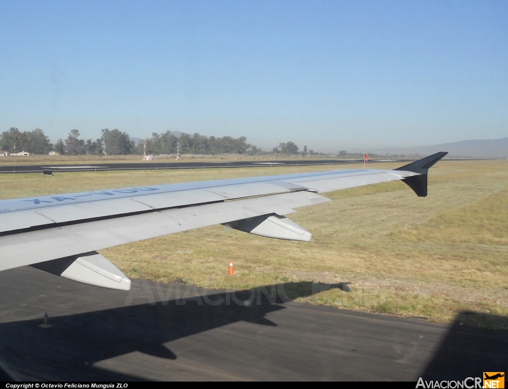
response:
M506 328L508 317L460 312L420 376L424 380L462 381L473 373L483 377L483 372L504 372L508 367L508 331L478 327L485 324Z

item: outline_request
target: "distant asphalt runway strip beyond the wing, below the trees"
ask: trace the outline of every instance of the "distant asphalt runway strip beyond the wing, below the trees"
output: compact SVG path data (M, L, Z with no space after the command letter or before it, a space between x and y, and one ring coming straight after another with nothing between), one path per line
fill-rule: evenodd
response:
M0 160L1 162L1 160ZM369 160L370 163L405 162L408 160ZM158 169L204 169L204 168L238 168L270 166L313 166L313 165L350 165L363 164L363 160L308 160L308 161L237 161L237 162L144 162L144 163L110 163L88 165L0 165L0 173L42 173L69 171L108 171L108 170L158 170Z

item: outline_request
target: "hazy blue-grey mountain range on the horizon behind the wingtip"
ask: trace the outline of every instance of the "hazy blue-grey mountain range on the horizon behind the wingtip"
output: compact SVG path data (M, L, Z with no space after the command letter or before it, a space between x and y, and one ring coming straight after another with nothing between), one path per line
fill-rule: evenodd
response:
M508 158L508 138L462 140L423 147L355 148L351 153L372 153L378 155L429 155L447 151L450 157Z

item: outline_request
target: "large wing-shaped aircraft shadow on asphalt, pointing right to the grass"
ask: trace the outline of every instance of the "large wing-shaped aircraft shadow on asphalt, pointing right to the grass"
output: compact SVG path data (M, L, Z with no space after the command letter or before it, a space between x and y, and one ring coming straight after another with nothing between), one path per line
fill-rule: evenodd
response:
M285 309L281 303L329 288L347 284L292 282L203 295L192 285L134 280L123 307L53 317L45 329L40 319L0 324L0 355L22 380L133 380L92 365L134 351L175 359L164 343L238 321L275 326L265 316Z

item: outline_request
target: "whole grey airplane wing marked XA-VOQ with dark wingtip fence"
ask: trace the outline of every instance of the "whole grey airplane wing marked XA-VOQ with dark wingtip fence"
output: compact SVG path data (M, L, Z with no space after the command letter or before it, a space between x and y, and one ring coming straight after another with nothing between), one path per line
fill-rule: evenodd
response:
M318 193L401 180L427 195L436 153L396 170L355 169L133 187L0 201L0 271L33 265L75 281L129 290L131 281L96 252L214 224L310 241L284 217L330 201Z

